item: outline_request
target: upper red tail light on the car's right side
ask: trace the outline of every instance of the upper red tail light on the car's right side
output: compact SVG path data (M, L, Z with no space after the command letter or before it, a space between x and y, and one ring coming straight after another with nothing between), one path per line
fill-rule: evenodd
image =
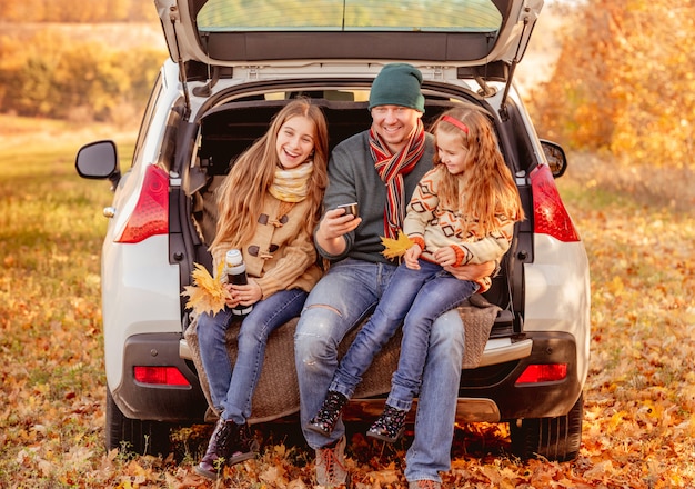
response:
M548 234L564 242L580 241L572 219L565 209L551 169L540 164L531 172L533 188L533 231Z

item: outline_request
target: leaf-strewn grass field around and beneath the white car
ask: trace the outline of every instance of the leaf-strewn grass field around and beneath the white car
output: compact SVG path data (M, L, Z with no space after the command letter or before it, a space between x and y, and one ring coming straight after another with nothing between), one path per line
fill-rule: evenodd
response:
M37 131L0 118L0 487L216 487L193 475L204 449L194 429L175 433L183 458L103 448L99 256L111 194L78 178L73 161L108 128ZM123 157L131 141L117 134ZM507 453L503 426L461 427L447 487L695 487L695 216L615 190L607 170L587 179L584 162L575 157L558 180L592 267L580 457L523 462ZM404 447L364 443L353 438L349 451L356 487L405 487ZM223 486L311 487L308 460L302 445L268 443Z

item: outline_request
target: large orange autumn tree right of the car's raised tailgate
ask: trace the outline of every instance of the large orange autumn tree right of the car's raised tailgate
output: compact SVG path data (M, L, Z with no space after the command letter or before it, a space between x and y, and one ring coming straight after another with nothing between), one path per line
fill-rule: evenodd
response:
M695 3L587 0L533 93L543 137L655 166L695 166Z

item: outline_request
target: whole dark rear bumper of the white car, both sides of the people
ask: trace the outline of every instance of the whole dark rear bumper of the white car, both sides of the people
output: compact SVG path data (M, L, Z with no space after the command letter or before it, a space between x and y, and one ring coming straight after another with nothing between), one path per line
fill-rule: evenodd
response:
M170 422L203 421L208 402L192 362L181 358L178 333L130 337L125 342L123 382L113 400L128 418ZM582 392L577 376L575 339L564 332L532 332L531 355L522 359L463 370L456 421L498 422L520 418L564 416ZM566 363L567 376L558 381L523 383L516 380L530 365ZM177 367L190 386L144 385L134 378L135 366ZM346 408L349 420L377 416L385 397L355 399ZM412 412L415 410L413 409Z

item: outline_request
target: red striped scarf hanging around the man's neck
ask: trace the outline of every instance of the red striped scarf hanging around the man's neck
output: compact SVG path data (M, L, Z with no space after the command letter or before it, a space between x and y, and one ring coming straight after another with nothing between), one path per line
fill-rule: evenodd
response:
M391 154L389 147L370 129L370 152L374 158L374 168L386 184L386 206L384 208L384 236L396 238L405 218L405 189L403 176L410 173L425 152L425 130L421 120L407 144L396 154Z

